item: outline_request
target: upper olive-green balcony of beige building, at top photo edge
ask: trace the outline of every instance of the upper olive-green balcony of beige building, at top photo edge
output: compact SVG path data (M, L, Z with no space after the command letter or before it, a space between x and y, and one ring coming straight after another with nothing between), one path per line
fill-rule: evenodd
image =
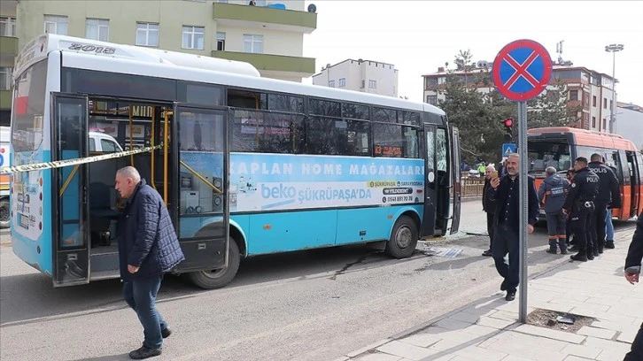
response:
M257 27L310 34L317 28L317 14L264 6L213 3L213 17L223 26Z

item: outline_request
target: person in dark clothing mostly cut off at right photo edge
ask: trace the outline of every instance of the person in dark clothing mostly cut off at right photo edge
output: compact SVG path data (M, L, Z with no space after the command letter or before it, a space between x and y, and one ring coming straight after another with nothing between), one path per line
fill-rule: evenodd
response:
M643 260L643 212L639 214L636 231L631 237L630 249L625 258L625 279L632 285L639 282L641 260ZM623 359L623 361L640 360L643 360L643 324L640 326L634 342L631 342L631 351Z

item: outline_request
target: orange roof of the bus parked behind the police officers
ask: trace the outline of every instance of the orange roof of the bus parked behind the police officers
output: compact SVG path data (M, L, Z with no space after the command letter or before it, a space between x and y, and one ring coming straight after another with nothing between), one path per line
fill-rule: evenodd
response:
M528 129L527 134L572 134L576 145L637 151L636 145L625 139L622 135L603 133L595 130L579 129L575 127L541 127Z

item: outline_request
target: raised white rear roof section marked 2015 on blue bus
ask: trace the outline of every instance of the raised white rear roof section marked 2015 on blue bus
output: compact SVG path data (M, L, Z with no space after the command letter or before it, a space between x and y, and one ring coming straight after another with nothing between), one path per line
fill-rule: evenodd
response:
M148 63L188 66L198 69L260 76L257 68L249 63L240 61L112 42L99 42L66 35L44 34L28 42L20 50L16 58L14 79L18 78L28 65L46 58L47 54L54 50L72 51L95 57L124 58Z

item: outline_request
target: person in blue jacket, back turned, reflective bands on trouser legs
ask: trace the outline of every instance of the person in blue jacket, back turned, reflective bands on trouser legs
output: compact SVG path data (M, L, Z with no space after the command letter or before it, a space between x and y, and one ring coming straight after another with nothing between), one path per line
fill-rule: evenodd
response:
M547 234L549 235L549 249L546 252L555 255L560 248L561 254L566 255L567 234L562 204L565 203L565 196L569 191L569 181L558 175L553 166L548 166L545 173L546 178L538 188L538 203L545 204Z

